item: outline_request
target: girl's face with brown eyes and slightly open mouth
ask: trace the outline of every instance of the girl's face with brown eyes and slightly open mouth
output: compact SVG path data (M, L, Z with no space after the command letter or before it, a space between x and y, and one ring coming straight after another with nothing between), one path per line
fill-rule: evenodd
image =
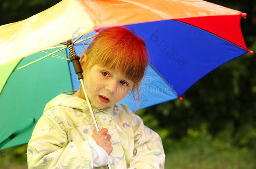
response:
M133 82L119 72L98 65L89 70L84 84L89 100L99 109L121 101L133 86Z

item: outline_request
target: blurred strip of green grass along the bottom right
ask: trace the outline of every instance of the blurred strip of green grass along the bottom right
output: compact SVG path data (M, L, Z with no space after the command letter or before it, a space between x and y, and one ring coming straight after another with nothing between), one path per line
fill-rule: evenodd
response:
M247 148L217 150L195 145L170 151L165 169L256 169L256 160L255 153Z

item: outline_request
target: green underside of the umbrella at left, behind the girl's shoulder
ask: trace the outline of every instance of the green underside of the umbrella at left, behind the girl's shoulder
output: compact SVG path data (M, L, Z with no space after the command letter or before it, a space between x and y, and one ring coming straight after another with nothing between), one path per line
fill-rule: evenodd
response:
M56 49L44 51L53 53ZM65 53L55 54L66 58ZM0 150L27 143L45 104L73 90L68 61L45 55L35 53L0 67L0 128L5 129L0 130ZM39 58L44 59L21 68Z

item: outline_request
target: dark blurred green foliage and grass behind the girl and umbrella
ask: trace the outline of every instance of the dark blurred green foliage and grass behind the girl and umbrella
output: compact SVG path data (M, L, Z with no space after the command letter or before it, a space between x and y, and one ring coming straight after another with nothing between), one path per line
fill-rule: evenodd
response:
M0 25L50 8L60 0L0 0ZM256 1L209 0L246 12L241 28L256 53ZM165 168L256 169L256 58L245 54L196 82L183 101L137 112L162 138ZM0 168L26 168L26 144L0 151Z

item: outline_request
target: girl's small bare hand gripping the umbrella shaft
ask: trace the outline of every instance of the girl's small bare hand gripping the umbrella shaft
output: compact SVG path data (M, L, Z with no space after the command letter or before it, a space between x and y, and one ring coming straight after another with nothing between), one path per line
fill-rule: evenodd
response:
M108 155L113 150L113 147L111 146L111 141L110 141L110 134L107 134L107 129L103 128L100 129L98 132L94 130L93 134L91 137L94 139L94 141L98 144L98 146L102 147Z

